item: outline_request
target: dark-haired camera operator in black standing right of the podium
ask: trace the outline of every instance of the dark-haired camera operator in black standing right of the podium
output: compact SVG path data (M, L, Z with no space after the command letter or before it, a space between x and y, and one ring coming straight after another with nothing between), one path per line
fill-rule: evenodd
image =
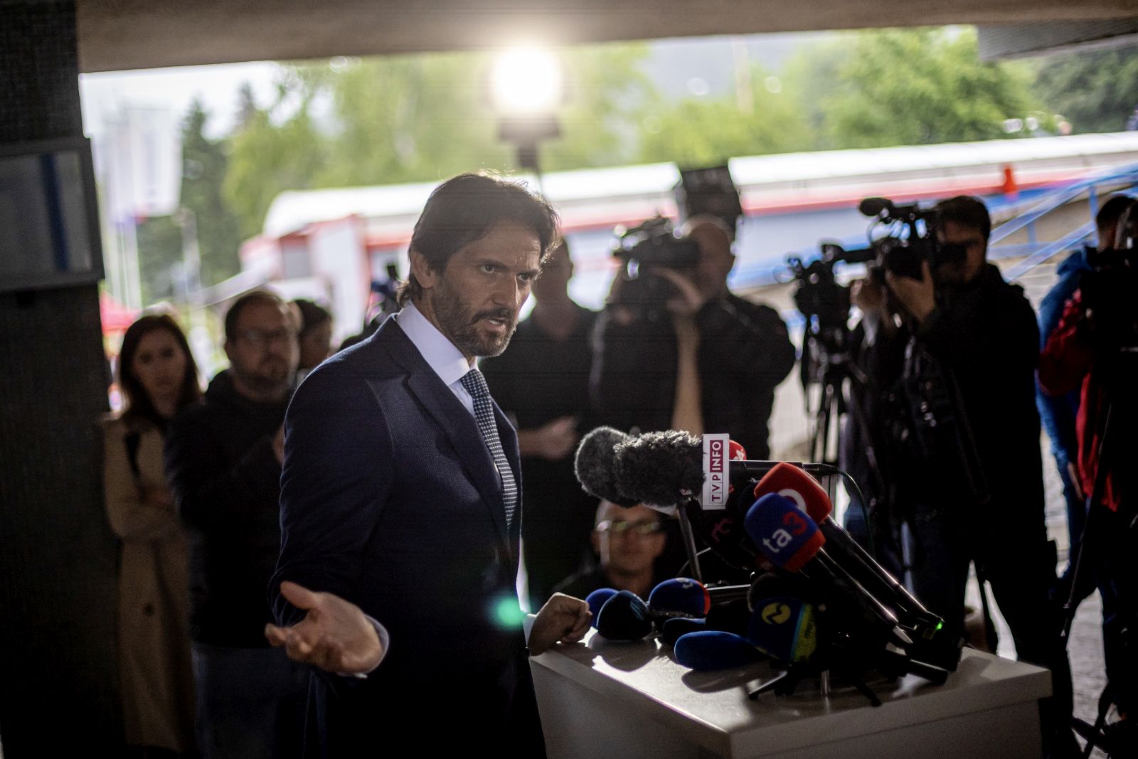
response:
M888 264L885 273L909 332L898 386L909 426L892 437L914 591L960 628L975 562L1020 659L1052 670L1041 721L1046 748L1063 753L1074 746L1071 673L1048 602L1056 559L1044 521L1034 312L986 261L991 220L979 199L945 200L929 221L935 265L924 257L920 279Z

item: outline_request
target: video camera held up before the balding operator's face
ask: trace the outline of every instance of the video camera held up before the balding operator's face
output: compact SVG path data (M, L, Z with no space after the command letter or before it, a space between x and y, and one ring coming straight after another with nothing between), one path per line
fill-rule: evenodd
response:
M668 299L675 297L675 286L654 275L662 269L690 271L700 261L694 240L676 236L669 218L655 216L638 226L615 230L618 237L612 256L624 262L624 282L611 305L641 311L649 317L662 313Z

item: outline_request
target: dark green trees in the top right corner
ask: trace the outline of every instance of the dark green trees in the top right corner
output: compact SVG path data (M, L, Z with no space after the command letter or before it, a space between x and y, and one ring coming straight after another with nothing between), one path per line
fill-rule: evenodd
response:
M1138 46L1052 56L1036 92L1075 132L1120 132L1138 107Z

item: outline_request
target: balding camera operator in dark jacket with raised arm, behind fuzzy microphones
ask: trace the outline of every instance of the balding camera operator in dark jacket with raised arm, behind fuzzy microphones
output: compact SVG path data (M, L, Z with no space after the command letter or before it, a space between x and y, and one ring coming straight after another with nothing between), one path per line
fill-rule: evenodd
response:
M698 248L693 265L642 261L637 279L613 281L595 332L591 390L600 421L729 432L752 459L766 459L774 389L794 365L794 346L773 308L727 290L731 228L696 216L684 232Z

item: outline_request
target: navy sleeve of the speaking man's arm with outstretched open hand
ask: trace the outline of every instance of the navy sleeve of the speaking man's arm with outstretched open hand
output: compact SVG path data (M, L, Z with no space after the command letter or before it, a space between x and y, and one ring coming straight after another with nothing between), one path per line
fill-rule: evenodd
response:
M305 379L284 418L281 555L270 585L281 625L304 617L282 580L355 602L361 554L391 488L393 444L370 386L339 364Z

